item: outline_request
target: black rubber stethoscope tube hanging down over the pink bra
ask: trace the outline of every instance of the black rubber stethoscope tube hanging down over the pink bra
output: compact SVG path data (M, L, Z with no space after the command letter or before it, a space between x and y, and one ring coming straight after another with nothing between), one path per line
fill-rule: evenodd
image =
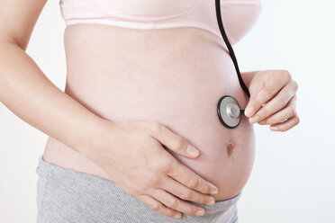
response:
M217 21L218 21L218 24L219 24L219 28L220 28L220 31L221 31L221 34L222 34L222 38L225 41L225 43L226 43L226 45L227 45L227 47L229 49L229 52L231 54L231 58L232 58L232 61L234 62L236 73L237 73L237 75L239 77L240 86L242 87L243 91L248 95L248 97L250 97L248 87L244 84L243 79L240 76L240 69L239 69L239 65L237 63L237 60L235 58L234 50L232 49L231 43L228 40L227 34L226 34L226 32L224 31L224 28L223 28L222 17L221 17L221 4L220 4L220 0L215 0L215 8L216 8L216 18L217 18Z

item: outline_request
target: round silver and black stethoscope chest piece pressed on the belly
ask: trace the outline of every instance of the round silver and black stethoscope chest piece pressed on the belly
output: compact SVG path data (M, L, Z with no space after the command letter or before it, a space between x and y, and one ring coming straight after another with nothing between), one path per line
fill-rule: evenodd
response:
M217 110L219 120L229 129L233 129L240 124L241 113L244 112L240 110L240 104L229 95L224 95L220 98Z

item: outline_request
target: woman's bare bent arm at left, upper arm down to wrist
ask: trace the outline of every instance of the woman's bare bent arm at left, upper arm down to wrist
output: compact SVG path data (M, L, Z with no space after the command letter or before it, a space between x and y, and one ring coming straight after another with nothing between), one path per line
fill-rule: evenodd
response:
M0 102L34 128L87 156L106 120L59 90L26 54L47 0L33 2L0 1Z

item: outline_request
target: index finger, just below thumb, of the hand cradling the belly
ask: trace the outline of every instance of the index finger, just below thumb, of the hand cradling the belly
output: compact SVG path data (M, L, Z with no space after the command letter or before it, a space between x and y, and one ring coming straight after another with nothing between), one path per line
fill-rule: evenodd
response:
M171 168L168 170L167 174L177 182L186 185L186 187L193 189L204 194L216 194L218 189L212 184L205 181L199 175L195 174L186 165L182 165L177 159L172 162Z

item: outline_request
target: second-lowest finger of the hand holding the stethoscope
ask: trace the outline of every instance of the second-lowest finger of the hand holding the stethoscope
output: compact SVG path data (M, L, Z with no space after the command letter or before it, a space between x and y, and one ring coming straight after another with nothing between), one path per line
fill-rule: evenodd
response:
M259 121L258 124L274 125L274 124L281 123L285 120L288 120L294 117L294 115L296 115L295 102L296 102L296 95L292 97L292 99L287 103L287 105L285 106L283 110L276 112L275 114L267 117L267 119Z

